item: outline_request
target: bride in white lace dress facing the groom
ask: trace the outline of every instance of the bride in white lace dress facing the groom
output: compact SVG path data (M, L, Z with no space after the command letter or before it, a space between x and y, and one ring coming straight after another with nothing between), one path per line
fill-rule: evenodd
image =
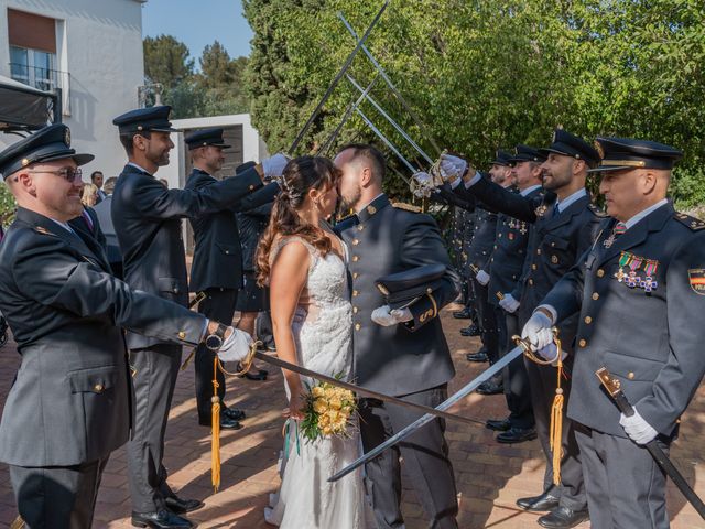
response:
M283 173L269 227L258 248L260 283L270 288L276 352L281 359L349 379L351 306L344 242L326 219L336 205L338 170L327 159L302 156ZM308 442L297 435L306 377L284 370L289 408L286 462L278 495L264 510L269 523L292 529L365 529L360 472L336 483L328 476L358 456L358 435Z

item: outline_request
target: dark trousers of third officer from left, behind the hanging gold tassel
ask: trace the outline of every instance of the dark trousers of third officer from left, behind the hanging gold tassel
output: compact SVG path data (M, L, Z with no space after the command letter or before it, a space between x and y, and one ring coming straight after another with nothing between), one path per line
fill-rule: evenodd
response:
M230 325L235 314L235 303L238 299L238 291L235 289L207 289L204 291L206 298L198 304L198 312L209 320ZM213 397L213 360L215 352L199 344L196 349L194 368L196 371L196 407L198 409L198 422L210 424L213 419L210 398ZM218 369L218 397L223 404L225 398L225 376Z

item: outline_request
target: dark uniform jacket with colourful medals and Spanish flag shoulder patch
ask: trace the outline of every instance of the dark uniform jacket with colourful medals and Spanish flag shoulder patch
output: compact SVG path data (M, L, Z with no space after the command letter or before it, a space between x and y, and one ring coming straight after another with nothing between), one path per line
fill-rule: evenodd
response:
M672 435L705 373L705 223L668 204L605 248L610 233L611 223L543 300L561 320L579 312L568 415L626 436L619 410L595 376L607 367L639 414ZM644 282L651 268L657 284L650 292L618 280L620 268L632 266Z

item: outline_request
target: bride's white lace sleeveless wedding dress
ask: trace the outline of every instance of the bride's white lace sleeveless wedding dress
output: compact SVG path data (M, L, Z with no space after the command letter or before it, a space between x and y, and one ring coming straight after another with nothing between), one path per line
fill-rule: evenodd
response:
M351 305L346 263L335 252L321 253L299 237L281 239L270 261L286 244L303 244L311 255L307 306L299 306L292 323L299 365L348 380L352 369ZM345 249L345 246L344 246ZM346 250L347 256L347 250ZM347 259L347 257L346 257ZM307 377L302 381L312 384ZM305 388L305 386L304 386ZM289 388L286 388L289 397ZM328 477L359 455L359 434L307 442L290 422L282 484L264 509L267 522L282 529L365 529L368 519L361 471L336 483Z

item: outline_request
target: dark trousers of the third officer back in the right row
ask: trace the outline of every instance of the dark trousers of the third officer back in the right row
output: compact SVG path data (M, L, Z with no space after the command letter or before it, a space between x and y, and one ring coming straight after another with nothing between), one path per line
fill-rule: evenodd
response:
M495 307L499 336L499 357L502 358L516 347L512 336L521 334L519 317L503 309ZM534 427L533 408L531 407L531 389L527 366L521 358L511 361L502 369L505 397L509 409L509 422L512 428L529 429Z

